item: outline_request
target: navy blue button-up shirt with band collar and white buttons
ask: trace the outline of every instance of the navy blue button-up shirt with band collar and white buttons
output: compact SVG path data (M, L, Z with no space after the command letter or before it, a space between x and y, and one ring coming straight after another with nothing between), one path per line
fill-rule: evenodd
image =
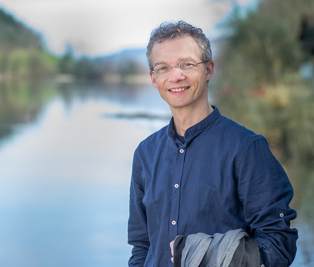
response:
M177 235L244 229L261 264L288 266L295 257L293 189L262 135L217 107L177 139L173 118L135 150L130 187L129 266L173 266Z

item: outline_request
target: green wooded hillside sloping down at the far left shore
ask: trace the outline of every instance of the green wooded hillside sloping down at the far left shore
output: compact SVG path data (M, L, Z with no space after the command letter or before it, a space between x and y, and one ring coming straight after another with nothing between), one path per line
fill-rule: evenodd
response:
M73 56L70 44L62 57L47 52L37 33L0 8L0 80L39 80L56 74L78 79L100 78L89 58Z

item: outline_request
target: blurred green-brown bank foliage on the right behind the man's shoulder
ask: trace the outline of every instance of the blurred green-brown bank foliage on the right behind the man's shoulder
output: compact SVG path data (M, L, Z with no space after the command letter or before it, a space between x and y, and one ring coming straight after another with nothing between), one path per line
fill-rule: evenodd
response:
M312 0L264 0L244 18L239 10L232 14L216 61L223 68L216 102L225 115L266 136L283 163L312 168L314 84L299 74L300 63L309 60L300 42L309 14Z

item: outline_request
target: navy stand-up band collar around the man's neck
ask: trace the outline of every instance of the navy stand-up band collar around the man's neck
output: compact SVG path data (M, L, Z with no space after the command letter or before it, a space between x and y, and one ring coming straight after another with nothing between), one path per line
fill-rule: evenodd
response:
M185 131L184 139L186 142L190 142L196 135L203 132L211 123L213 123L221 115L216 106L212 106L212 108L214 109L213 112L210 113L205 119L191 126ZM171 120L169 122L167 135L169 138L171 138L177 143L176 134L174 132L173 117L171 117Z

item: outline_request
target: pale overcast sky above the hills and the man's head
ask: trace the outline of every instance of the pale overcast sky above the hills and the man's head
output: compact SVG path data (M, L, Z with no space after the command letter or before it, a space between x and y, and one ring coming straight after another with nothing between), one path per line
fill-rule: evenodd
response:
M0 0L0 6L43 33L47 46L64 52L71 43L89 56L145 46L165 20L185 20L214 35L213 25L237 3L254 0Z

